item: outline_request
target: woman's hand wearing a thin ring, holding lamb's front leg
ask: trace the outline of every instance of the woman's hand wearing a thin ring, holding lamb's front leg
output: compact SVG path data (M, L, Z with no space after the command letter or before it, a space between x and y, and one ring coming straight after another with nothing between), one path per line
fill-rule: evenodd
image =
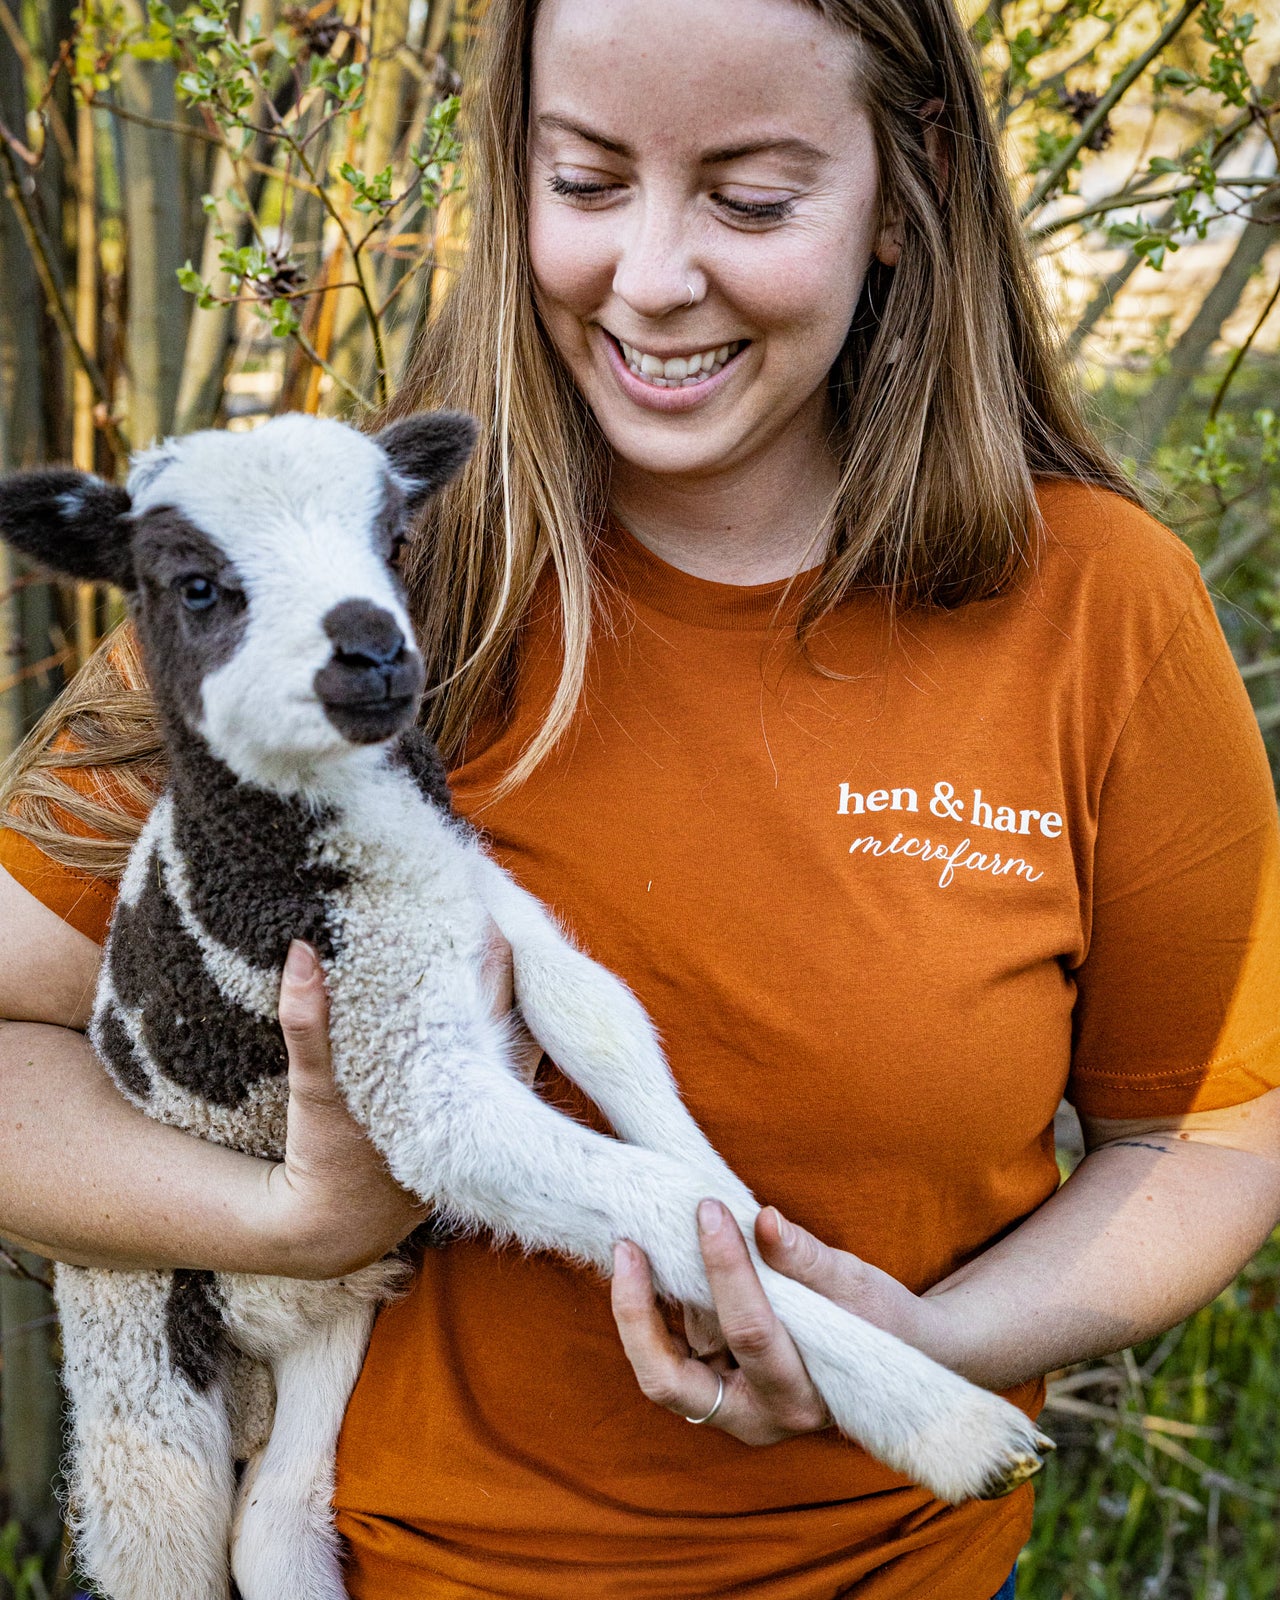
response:
M613 1317L643 1394L678 1416L699 1418L715 1405L723 1379L725 1398L710 1426L746 1445L773 1445L827 1427L822 1397L770 1306L738 1224L718 1200L698 1208L698 1237L718 1328L712 1318L690 1315L685 1338L662 1318L645 1254L626 1242L614 1250ZM947 1360L936 1304L886 1272L821 1243L773 1206L755 1219L755 1243L776 1272Z

